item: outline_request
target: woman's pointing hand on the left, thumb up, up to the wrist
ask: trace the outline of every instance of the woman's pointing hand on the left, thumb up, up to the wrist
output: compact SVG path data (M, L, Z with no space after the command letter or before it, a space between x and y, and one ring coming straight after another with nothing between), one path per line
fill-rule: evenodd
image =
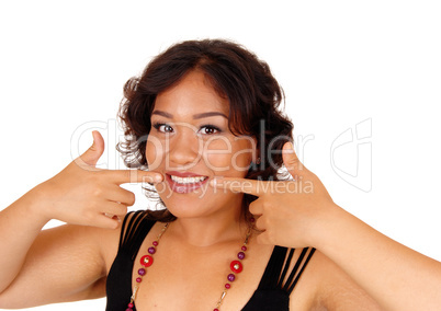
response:
M95 168L104 151L104 140L93 131L93 145L53 178L30 192L37 203L37 214L67 223L114 229L127 214L135 195L122 188L124 183L158 183L162 175L139 170L101 170Z

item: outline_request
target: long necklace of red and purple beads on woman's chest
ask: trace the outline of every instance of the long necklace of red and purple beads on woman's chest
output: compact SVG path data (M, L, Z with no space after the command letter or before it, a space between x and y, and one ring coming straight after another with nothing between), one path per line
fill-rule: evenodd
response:
M250 221L253 222L253 219L250 219ZM151 246L147 249L148 255L144 255L140 257L139 262L143 267L140 267L138 269L138 276L136 277L136 285L135 285L135 288L134 288L132 297L131 297L131 302L128 302L127 309L125 311L133 311L133 308L135 307L136 295L138 292L140 283L143 281L143 277L146 276L147 268L154 264L152 255L156 253L156 247L159 245L159 240L161 239L162 234L167 231L169 226L170 226L170 222L167 222L163 226L162 230L159 232L156 240L151 243ZM245 258L245 252L247 251L248 240L249 240L250 235L251 235L251 227L248 229L244 244L240 247L240 252L237 253L237 260L233 261L229 264L229 268L231 269L231 273L228 274L228 276L227 276L228 281L225 284L220 298L217 301L216 307L213 309L213 311L219 311L219 308L222 306L222 302L224 301L225 296L227 295L228 289L231 288L231 283L236 279L236 275L241 273L244 269L244 265L242 265L241 261Z

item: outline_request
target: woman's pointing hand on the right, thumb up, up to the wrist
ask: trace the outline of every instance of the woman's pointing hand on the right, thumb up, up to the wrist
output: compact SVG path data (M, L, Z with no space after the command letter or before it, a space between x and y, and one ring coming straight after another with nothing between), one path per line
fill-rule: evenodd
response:
M256 227L263 232L257 241L287 247L314 246L318 233L329 221L331 197L320 180L307 170L294 152L293 145L283 146L283 163L294 181L255 181L247 178L216 178L217 188L258 196L249 206L257 216ZM323 232L326 234L326 232Z

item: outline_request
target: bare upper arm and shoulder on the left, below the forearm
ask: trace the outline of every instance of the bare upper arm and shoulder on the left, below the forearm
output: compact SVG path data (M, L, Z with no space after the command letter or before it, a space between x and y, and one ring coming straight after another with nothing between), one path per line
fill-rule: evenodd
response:
M42 231L0 295L0 308L103 297L106 270L101 244L113 241L116 249L117 231L69 224Z

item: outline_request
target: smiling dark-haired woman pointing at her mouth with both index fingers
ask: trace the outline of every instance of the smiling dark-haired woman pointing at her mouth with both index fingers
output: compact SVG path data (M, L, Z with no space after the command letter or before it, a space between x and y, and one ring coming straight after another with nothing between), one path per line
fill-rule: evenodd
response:
M108 310L440 302L438 262L343 211L299 163L280 87L251 53L178 44L126 83L125 97L120 150L148 172L95 169L104 143L93 133L87 152L1 211L1 308L104 295ZM154 184L166 209L126 216L134 195L120 185L134 181ZM69 224L42 231L49 219Z

